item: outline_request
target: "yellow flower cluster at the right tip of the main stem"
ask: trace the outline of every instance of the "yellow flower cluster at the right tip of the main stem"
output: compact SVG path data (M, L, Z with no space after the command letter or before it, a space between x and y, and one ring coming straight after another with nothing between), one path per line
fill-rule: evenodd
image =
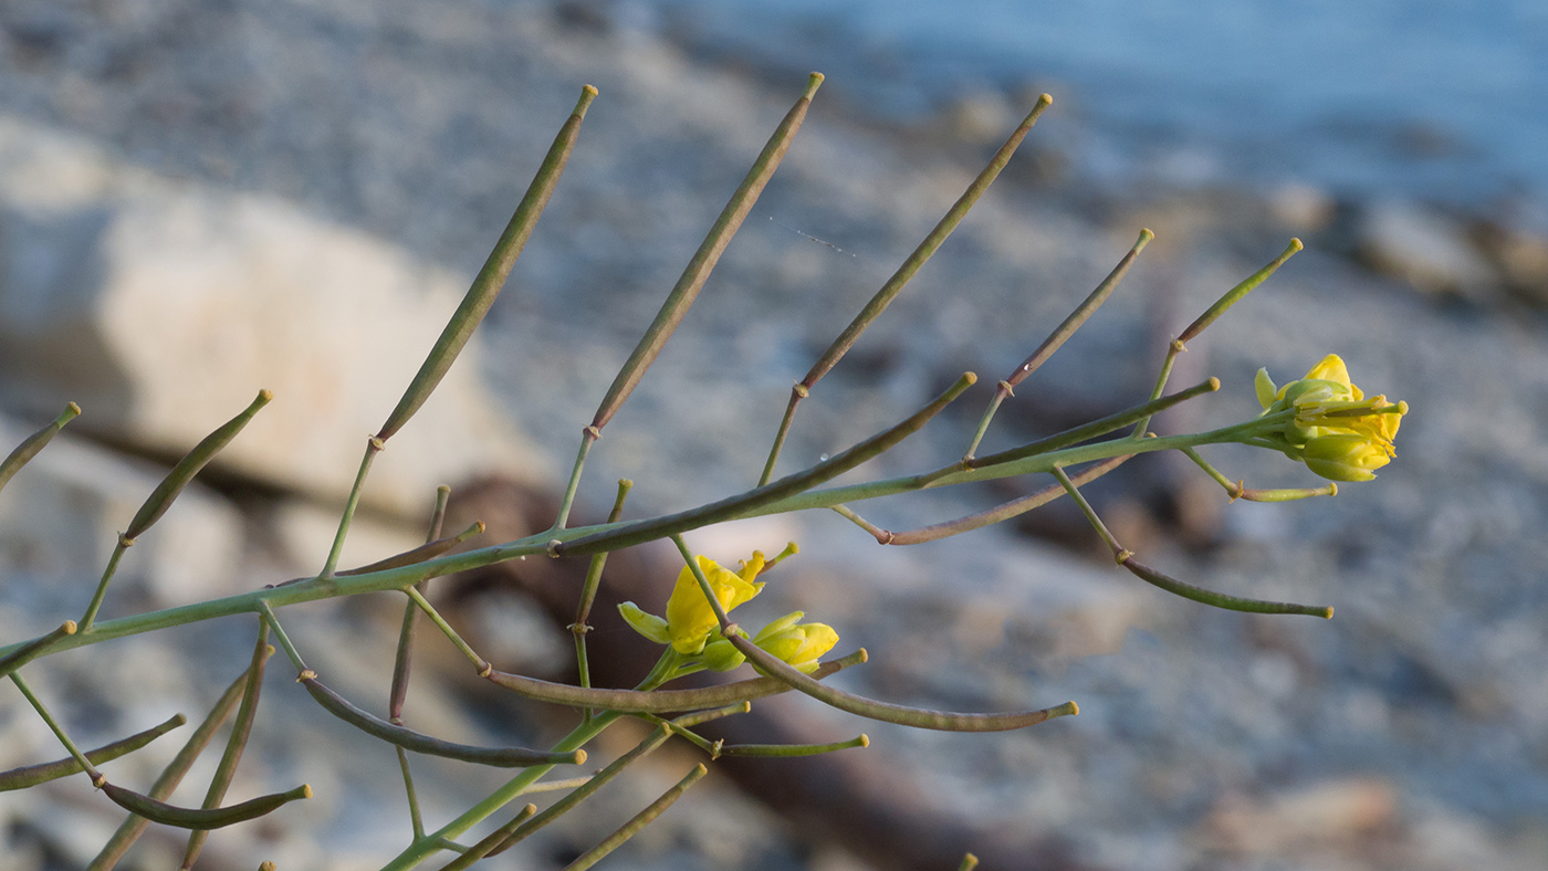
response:
M1265 436L1268 444L1331 481L1375 478L1375 470L1392 461L1392 439L1409 413L1407 402L1392 404L1379 395L1367 399L1337 354L1279 388L1268 370L1259 370L1255 388L1263 416L1294 412Z

